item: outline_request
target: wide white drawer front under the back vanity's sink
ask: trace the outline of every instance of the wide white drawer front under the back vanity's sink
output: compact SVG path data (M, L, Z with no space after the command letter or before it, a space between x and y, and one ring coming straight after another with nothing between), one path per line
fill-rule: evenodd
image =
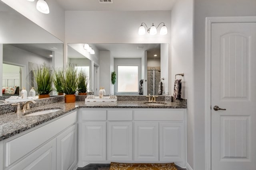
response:
M184 110L134 110L134 120L184 121Z

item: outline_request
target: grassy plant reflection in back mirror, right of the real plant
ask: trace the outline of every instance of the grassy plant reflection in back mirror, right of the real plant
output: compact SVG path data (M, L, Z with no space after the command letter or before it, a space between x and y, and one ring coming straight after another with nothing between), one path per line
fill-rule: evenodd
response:
M87 95L87 76L84 70L78 73L77 91L78 95Z

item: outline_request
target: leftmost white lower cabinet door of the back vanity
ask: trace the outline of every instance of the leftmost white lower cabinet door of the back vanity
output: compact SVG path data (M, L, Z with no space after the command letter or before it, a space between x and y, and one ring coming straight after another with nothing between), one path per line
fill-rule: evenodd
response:
M83 160L106 160L106 122L82 123Z

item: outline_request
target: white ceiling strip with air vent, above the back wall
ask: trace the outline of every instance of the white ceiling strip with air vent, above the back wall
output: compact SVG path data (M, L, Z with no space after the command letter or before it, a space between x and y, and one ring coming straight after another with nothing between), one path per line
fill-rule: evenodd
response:
M151 11L172 10L176 0L112 0L100 4L98 0L56 0L66 11Z

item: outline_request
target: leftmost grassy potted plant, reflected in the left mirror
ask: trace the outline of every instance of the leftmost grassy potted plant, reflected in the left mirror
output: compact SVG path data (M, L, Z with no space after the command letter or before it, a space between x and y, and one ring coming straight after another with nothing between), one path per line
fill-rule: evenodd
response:
M50 66L47 64L40 64L36 70L34 70L34 77L36 80L37 88L36 92L39 94L38 98L49 98L50 92L52 92L53 75Z

